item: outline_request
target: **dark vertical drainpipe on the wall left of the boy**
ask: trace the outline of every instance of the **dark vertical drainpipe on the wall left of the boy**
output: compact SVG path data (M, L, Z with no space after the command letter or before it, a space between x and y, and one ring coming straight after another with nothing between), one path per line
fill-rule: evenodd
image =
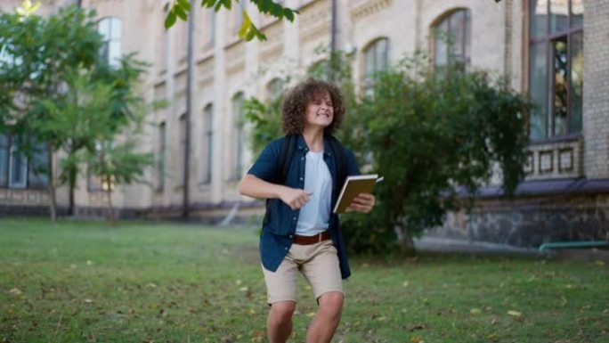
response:
M192 53L192 41L194 35L194 23L195 23L195 4L191 0L192 11L188 18L188 50L186 53L187 66L186 66L186 113L184 118L184 184L183 184L183 204L182 204L182 217L188 219L190 216L190 166L191 166L191 112L192 112L192 83L194 81L194 56Z

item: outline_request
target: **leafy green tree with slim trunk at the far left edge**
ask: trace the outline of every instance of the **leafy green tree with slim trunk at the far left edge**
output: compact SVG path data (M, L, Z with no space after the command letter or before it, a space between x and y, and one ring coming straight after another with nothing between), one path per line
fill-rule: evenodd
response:
M95 30L93 12L73 6L61 8L47 19L21 13L0 15L0 130L20 137L21 142L48 142L61 145L52 132L37 132L36 122L45 123L48 111L43 102L65 91L66 78L73 66L90 68L99 63L102 39ZM30 156L34 149L21 149ZM48 154L47 173L53 172L53 154ZM56 216L53 177L49 178L51 216Z

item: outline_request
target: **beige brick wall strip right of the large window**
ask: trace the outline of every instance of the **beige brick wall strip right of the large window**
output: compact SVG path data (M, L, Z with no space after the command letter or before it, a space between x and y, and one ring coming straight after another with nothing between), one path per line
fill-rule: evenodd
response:
M584 173L609 177L609 1L584 3Z

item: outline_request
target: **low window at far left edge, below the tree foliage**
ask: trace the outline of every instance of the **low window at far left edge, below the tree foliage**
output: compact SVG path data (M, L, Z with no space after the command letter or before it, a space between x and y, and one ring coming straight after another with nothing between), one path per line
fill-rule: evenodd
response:
M29 159L20 148L19 139L0 134L0 187L44 188L49 184L45 144L35 144Z

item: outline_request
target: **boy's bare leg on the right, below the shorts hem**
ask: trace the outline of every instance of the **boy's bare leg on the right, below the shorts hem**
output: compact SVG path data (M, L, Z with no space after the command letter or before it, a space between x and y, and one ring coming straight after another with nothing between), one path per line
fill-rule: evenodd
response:
M328 292L319 298L320 308L306 332L307 343L329 343L337 331L345 297L341 292Z

